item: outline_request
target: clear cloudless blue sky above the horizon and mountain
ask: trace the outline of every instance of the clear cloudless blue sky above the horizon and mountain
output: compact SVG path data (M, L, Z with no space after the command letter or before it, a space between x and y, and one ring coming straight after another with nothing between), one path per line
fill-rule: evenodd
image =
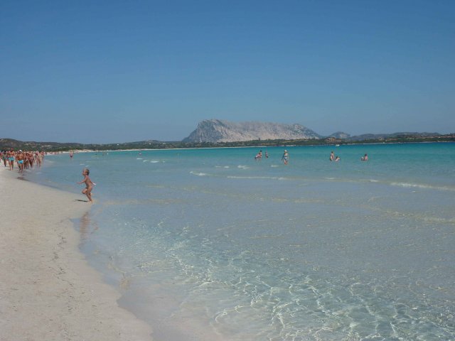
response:
M455 1L0 1L0 138L455 132Z

